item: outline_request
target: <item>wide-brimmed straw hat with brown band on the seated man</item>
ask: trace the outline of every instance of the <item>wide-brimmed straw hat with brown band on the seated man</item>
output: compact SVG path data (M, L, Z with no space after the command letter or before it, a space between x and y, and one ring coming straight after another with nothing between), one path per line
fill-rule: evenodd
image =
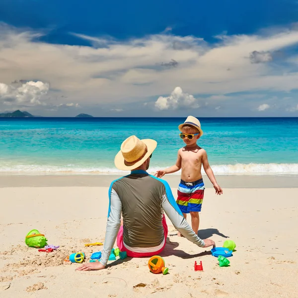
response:
M157 142L151 139L140 140L136 136L127 138L115 156L115 166L119 170L133 170L142 165L152 154Z

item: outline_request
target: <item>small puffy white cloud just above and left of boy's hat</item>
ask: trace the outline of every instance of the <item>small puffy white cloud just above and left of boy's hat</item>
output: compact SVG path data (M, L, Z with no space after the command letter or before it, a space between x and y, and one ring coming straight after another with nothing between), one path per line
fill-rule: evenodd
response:
M196 99L193 95L185 93L180 87L176 87L170 96L159 96L155 102L155 107L159 110L177 109L178 107L196 107Z

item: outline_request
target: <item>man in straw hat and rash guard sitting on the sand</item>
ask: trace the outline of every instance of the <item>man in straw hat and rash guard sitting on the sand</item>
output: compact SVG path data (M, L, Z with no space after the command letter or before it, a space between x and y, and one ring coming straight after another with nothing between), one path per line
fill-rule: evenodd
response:
M188 240L200 247L215 247L211 239L202 240L192 230L175 202L168 183L149 175L154 140L126 139L115 157L120 170L131 170L127 176L111 183L106 236L100 262L86 263L76 270L100 270L106 267L117 238L121 251L129 257L150 257L159 254L165 246L167 224L163 211L174 227ZM121 213L123 225L121 225Z

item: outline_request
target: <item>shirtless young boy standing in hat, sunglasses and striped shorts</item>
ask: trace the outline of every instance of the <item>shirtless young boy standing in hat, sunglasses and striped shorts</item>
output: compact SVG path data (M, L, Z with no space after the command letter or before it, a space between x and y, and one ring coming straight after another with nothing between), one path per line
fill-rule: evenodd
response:
M198 233L200 224L199 212L202 209L205 189L201 174L202 165L215 188L216 194L223 194L223 190L215 179L206 151L197 145L197 140L203 135L200 121L193 116L188 116L185 122L180 124L178 128L181 132L180 138L186 146L178 150L175 165L157 171L155 176L160 178L165 174L174 173L181 169L181 181L178 186L176 202L185 218L190 213L192 228L195 233ZM180 236L180 233L178 235Z

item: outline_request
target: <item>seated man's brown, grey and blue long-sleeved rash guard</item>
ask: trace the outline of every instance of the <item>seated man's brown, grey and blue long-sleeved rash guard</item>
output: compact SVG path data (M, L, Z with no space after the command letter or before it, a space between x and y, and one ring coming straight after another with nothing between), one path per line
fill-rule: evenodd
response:
M111 183L109 211L101 264L106 265L123 217L123 241L129 247L155 247L164 240L163 211L188 240L204 247L181 213L168 183L135 170Z

